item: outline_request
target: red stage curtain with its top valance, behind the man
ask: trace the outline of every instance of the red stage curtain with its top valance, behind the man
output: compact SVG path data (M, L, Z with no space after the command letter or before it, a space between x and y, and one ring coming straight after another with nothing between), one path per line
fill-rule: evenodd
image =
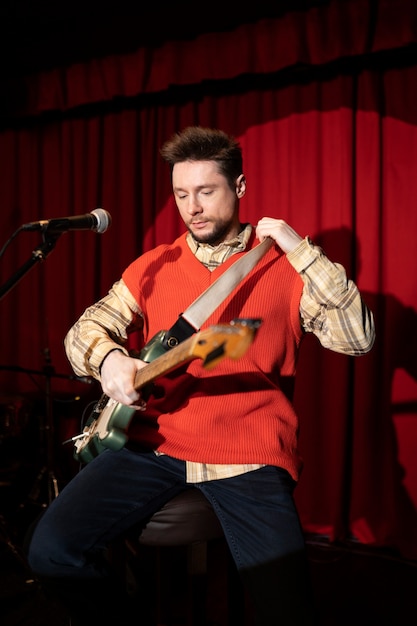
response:
M113 224L65 233L39 262L40 233L6 246L2 285L33 267L0 302L0 389L43 392L52 365L53 395L88 395L67 379L64 335L135 256L182 231L163 141L189 124L221 127L244 150L242 218L282 217L312 236L375 314L377 342L364 357L304 343L303 526L417 558L417 64L412 49L394 50L414 41L416 8L376 4L375 14L374 3L331 2L28 80L29 117L0 133L3 243L23 223L98 206Z

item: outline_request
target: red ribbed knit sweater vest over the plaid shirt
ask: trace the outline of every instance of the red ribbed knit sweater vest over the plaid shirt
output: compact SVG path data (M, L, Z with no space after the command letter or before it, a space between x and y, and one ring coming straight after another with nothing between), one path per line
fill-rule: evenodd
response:
M252 236L249 247L256 243ZM210 272L182 235L136 259L123 279L143 311L144 344L169 329L241 254ZM145 414L135 415L129 439L188 461L277 465L297 480L302 462L292 390L302 289L300 276L273 247L203 326L261 318L248 351L212 370L197 359L158 379L158 393Z

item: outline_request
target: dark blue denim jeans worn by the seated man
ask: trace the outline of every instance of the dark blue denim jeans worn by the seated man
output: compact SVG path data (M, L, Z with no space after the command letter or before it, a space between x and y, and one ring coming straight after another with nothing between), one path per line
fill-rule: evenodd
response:
M106 547L181 491L197 487L221 522L256 623L310 626L314 621L308 563L294 486L285 470L272 466L189 485L183 461L152 451L106 450L65 486L39 519L29 565L69 613L78 615L73 623L90 620L91 625L93 615L93 623L116 623L107 603L100 616L97 598L88 598L93 589L105 598L107 588L116 602L117 587L113 581L109 584L112 579L102 558ZM121 606L124 600L115 613L118 624L142 624L137 615L123 621Z

